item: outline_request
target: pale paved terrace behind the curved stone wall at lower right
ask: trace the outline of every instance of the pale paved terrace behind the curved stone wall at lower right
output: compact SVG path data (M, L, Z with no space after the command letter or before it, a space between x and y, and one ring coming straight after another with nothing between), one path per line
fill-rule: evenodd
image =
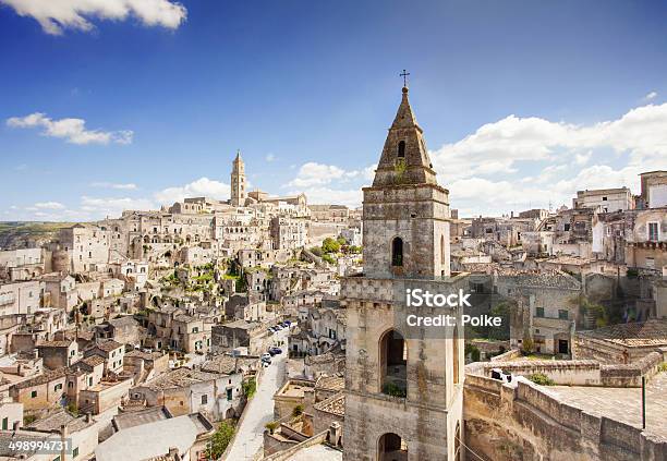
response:
M642 427L642 389L584 386L549 386L565 402L590 413ZM646 386L646 432L667 437L667 373Z

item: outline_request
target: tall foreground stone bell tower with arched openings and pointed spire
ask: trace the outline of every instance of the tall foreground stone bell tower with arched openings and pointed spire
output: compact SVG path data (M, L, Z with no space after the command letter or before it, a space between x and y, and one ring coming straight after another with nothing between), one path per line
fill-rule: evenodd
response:
M341 286L343 460L457 460L463 330L410 327L404 319L416 311L407 306L405 290L453 291L468 279L450 274L448 191L436 181L405 86L373 185L363 192L364 272Z

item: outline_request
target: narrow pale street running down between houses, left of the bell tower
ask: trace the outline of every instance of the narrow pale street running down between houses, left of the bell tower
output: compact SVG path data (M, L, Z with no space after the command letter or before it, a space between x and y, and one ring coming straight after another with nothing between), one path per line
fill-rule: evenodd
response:
M288 356L287 351L287 330L281 330L275 335L277 341L284 341L280 348L282 353L275 355L268 368L264 368L264 377L257 387L255 397L250 401L243 412L243 421L237 428L237 437L232 442L232 448L226 460L229 461L252 461L264 442L264 425L274 420L274 393L283 384L286 376L284 367Z

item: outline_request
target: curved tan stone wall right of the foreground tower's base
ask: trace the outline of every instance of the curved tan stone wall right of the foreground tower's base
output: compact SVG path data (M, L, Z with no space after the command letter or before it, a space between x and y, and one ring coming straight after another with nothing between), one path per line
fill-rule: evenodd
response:
M538 387L468 375L465 444L494 461L662 461L667 439L560 402ZM472 458L472 454L469 454Z

